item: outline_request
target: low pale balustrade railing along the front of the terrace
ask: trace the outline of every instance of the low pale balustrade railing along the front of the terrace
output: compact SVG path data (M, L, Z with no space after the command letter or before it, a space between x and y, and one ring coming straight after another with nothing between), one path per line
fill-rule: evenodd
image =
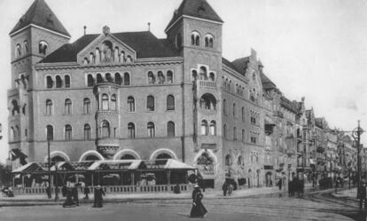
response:
M181 192L190 192L191 185L179 185ZM97 186L88 186L90 193L94 193ZM175 185L107 185L102 186L105 193L170 193L174 191ZM78 192L83 193L84 187L78 187ZM61 194L62 187L58 188ZM46 187L14 187L13 193L20 194L46 194ZM51 193L55 193L55 187L51 188Z

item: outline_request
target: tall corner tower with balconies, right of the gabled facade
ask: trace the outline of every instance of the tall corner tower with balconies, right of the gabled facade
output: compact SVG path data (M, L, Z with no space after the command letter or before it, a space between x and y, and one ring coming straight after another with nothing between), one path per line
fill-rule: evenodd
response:
M213 187L224 178L222 26L223 20L206 0L183 0L165 30L184 59L184 161L197 165Z

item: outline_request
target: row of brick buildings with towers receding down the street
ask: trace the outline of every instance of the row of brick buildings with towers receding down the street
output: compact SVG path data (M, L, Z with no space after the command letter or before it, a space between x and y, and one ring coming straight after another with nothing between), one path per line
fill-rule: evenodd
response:
M10 33L13 169L47 161L50 140L51 161L173 158L211 187L226 178L275 185L293 173L316 182L352 170L350 138L305 99L287 99L254 50L224 59L222 31L206 0L183 0L164 39L105 26L69 43L35 0Z

